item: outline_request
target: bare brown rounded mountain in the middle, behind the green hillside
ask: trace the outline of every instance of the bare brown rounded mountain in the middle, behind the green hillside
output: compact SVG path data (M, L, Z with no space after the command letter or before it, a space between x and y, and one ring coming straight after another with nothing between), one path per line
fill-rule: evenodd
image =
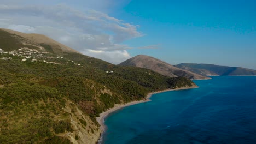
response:
M187 70L176 68L171 64L161 61L160 59L156 59L154 57L145 56L145 55L138 55L138 56L132 57L118 65L146 68L168 77L182 76L188 79L208 79L208 77L191 73L190 71L187 71Z

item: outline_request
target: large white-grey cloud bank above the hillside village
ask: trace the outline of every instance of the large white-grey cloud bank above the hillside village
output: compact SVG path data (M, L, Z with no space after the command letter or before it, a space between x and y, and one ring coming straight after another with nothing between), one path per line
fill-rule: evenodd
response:
M93 9L79 11L66 4L51 7L0 5L0 27L48 35L85 55L119 63L130 58L123 41L141 37L139 26Z

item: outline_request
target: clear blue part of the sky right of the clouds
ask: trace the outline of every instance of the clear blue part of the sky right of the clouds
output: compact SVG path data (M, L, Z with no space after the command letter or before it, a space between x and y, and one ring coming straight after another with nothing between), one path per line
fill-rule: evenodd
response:
M256 1L132 1L123 9L140 25L144 37L130 46L155 45L156 50L129 50L164 61L213 63L256 69Z

